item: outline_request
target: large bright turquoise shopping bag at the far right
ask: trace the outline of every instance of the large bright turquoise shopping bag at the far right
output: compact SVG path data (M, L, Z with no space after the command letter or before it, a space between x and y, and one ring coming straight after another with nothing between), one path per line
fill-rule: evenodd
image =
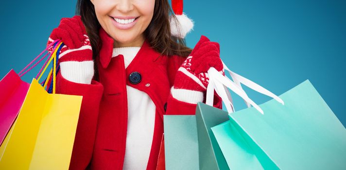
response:
M212 127L232 169L345 170L346 129L309 81Z

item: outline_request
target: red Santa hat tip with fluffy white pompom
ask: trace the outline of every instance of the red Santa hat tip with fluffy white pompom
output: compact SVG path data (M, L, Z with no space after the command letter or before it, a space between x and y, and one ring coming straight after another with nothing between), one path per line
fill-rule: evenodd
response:
M184 38L193 28L193 21L183 13L183 0L172 0L172 9L175 17L170 18L171 34L175 37Z

